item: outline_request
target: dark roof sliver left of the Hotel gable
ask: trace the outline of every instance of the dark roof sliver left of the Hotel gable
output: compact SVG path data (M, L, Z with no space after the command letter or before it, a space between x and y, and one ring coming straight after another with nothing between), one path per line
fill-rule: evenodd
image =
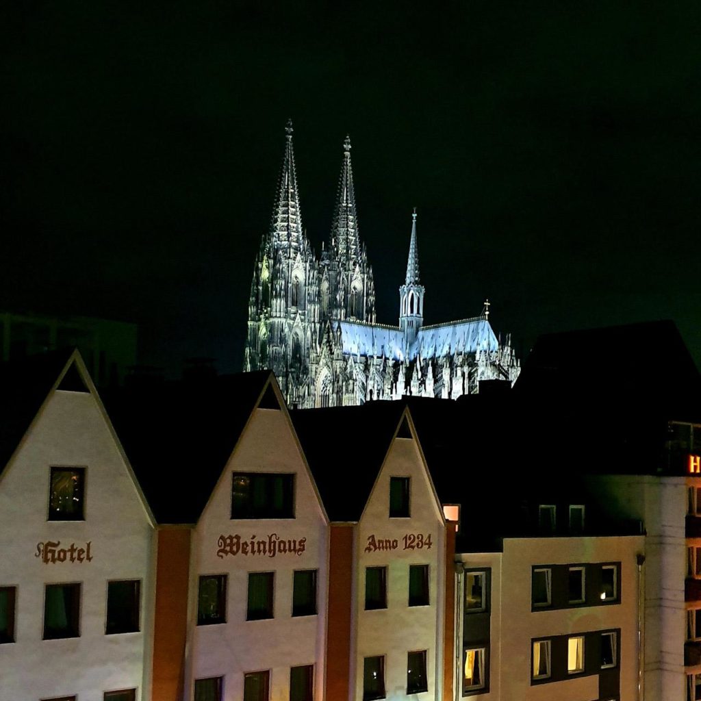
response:
M0 363L0 475L73 351L62 348Z

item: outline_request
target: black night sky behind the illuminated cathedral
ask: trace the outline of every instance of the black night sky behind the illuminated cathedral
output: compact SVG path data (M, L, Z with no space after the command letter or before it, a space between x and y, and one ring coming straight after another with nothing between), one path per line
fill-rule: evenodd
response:
M272 5L3 4L0 307L239 369L292 117L317 250L351 134L379 320L416 206L426 322L672 318L701 361L697 1Z

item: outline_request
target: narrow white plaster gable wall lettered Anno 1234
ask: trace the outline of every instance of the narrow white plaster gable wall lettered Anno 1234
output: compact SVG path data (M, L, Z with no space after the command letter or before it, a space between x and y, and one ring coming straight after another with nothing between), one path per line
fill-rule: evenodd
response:
M411 517L390 519L390 477L411 477ZM362 701L364 658L385 655L388 699L429 701L440 697L444 615L444 525L416 442L396 438L356 531L355 669L351 697ZM403 550L407 533L430 534L430 550ZM365 552L367 538L397 539L390 552ZM409 606L409 565L429 565L430 606ZM387 566L387 608L365 611L365 568ZM428 691L407 696L407 653L426 650Z

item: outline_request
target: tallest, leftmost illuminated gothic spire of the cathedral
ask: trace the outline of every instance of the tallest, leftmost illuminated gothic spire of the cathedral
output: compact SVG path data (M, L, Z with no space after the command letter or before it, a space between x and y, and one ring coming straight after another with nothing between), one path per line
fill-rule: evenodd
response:
M287 249L290 257L303 247L301 212L299 210L299 191L297 190L297 172L294 168L294 149L292 149L292 119L285 126L285 156L280 170L278 191L275 196L273 217L269 239L273 250Z

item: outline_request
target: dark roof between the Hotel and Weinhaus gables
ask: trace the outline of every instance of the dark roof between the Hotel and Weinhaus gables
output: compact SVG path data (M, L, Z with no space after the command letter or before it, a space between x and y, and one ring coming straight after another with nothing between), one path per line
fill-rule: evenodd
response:
M102 399L161 524L196 523L271 372L132 383Z

